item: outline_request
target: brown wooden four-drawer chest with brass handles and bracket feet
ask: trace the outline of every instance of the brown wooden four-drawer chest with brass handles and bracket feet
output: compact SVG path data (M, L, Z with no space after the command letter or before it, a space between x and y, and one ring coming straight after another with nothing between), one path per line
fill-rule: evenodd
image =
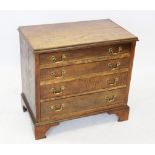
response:
M107 112L128 119L138 38L113 21L19 28L22 105L35 138L59 122Z

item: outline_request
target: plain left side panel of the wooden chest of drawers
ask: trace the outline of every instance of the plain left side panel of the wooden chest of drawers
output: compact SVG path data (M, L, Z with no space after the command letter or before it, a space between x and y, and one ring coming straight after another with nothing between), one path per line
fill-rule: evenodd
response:
M35 55L20 35L22 93L24 94L33 115L36 117L35 107Z

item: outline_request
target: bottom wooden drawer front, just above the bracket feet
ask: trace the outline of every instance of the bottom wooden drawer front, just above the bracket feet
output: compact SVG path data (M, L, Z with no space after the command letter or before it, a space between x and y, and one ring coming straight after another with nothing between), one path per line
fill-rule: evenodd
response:
M63 120L127 102L126 88L41 103L41 120Z

